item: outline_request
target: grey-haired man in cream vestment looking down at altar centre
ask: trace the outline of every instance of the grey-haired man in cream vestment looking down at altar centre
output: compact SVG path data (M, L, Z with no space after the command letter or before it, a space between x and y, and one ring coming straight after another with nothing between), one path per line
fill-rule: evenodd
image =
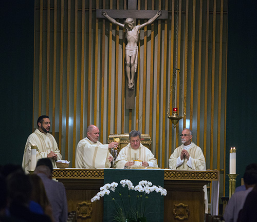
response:
M143 167L158 167L154 154L140 143L141 133L139 131L132 130L129 139L130 143L119 152L115 168L131 167L134 165L134 160L141 160Z

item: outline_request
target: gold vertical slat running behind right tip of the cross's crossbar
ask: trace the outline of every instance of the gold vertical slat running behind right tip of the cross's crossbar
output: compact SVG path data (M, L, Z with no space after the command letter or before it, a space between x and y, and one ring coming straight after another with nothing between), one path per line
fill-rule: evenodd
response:
M165 1L165 10L168 10L168 0ZM167 50L168 49L168 20L165 19L164 21L164 56L163 56L163 100L162 100L162 154L161 154L161 163L162 168L164 168L165 164L165 140L166 140L166 93L167 93L167 87L166 87L166 78L167 78Z

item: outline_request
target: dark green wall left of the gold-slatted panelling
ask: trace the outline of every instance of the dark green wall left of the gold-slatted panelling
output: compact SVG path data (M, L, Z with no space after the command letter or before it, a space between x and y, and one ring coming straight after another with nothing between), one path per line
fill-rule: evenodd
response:
M21 164L32 130L34 1L0 1L0 164Z

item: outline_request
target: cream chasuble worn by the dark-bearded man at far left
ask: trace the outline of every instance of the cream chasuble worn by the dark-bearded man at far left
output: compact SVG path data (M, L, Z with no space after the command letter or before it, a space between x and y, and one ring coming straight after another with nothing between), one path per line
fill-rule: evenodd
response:
M33 133L31 133L27 139L24 154L22 167L25 173L28 173L30 170L31 164L31 145L36 145L36 160L41 158L47 158L47 154L51 151L58 155L57 159L62 159L62 155L60 150L58 149L58 145L56 143L56 139L50 133L42 133L39 129L36 129ZM56 168L56 163L53 162L53 168Z

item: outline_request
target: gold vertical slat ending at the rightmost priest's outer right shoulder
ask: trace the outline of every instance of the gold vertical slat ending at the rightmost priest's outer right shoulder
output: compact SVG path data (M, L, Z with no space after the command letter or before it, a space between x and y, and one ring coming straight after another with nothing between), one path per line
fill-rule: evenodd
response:
M207 100L208 100L208 52L209 52L209 15L210 0L207 0L206 9L206 45L205 45L205 117L204 117L204 155L207 153ZM206 159L207 161L207 159Z

